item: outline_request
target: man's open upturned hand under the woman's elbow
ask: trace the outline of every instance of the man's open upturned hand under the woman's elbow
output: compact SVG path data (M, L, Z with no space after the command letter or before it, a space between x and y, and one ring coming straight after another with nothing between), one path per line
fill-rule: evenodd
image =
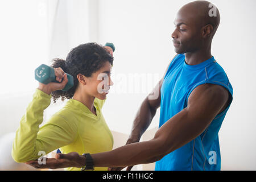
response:
M77 152L70 152L69 154L56 154L55 158L46 158L46 164L39 164L38 160L31 160L30 162L26 162L26 164L34 168L81 168L85 165L85 157L79 155Z

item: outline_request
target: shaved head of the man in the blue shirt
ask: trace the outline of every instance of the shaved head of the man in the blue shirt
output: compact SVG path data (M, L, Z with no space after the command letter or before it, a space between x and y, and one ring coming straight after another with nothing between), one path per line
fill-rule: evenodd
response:
M181 7L172 33L177 53L209 47L220 24L220 12L208 1L194 1Z

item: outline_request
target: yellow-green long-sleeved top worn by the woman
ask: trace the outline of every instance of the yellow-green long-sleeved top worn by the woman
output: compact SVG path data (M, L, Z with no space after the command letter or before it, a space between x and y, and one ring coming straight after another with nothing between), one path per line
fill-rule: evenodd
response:
M36 89L33 99L23 115L16 131L11 155L16 162L23 163L40 158L39 151L48 154L60 148L61 153L98 153L113 148L113 136L101 113L105 100L95 98L96 115L80 101L70 99L67 104L43 122L44 110L51 104L51 96ZM107 170L95 167L95 170ZM80 168L65 168L80 170Z

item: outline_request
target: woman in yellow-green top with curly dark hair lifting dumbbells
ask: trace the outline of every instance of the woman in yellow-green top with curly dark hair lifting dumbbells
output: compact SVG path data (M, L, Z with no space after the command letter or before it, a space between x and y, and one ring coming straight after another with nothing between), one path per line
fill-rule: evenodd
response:
M16 162L38 159L42 151L48 154L57 148L63 154L71 151L92 154L112 150L113 136L101 113L109 86L113 85L110 79L112 54L110 47L87 43L72 49L66 60L53 59L52 67L55 69L56 80L60 83L44 85L39 82L33 100L16 131L12 151ZM64 72L74 78L74 85L68 92L61 90L68 82ZM51 98L55 103L59 97L69 101L52 115L46 125L39 128L43 122L43 112L51 103ZM95 170L107 168L96 167Z

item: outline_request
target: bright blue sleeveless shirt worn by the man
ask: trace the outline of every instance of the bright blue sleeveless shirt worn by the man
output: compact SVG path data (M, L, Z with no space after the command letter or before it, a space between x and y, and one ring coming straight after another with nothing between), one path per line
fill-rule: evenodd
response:
M233 100L233 88L224 69L214 57L201 64L188 65L183 54L172 60L161 88L159 127L188 104L188 97L199 85L221 85L229 91ZM205 131L196 139L172 151L156 162L155 170L220 170L221 154L218 131L230 107L218 114Z

